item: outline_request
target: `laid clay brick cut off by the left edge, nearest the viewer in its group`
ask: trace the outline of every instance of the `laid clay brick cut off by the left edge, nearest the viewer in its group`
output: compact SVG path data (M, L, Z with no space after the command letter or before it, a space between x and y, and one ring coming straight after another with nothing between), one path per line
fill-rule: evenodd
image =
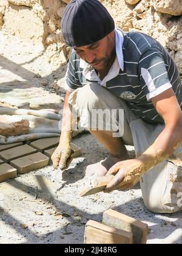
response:
M0 182L17 177L17 171L12 166L4 163L0 168Z

